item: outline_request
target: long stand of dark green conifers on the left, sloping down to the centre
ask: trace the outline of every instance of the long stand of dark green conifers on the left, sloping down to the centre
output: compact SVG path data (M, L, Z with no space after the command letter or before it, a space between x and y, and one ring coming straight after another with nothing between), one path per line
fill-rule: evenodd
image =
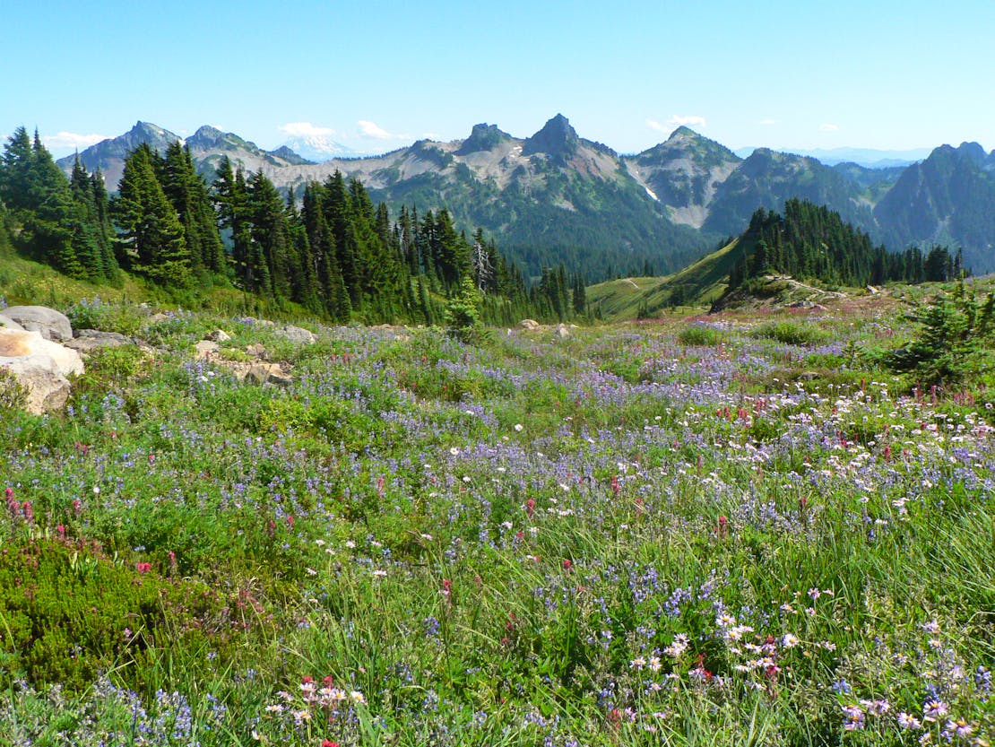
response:
M100 172L77 159L67 179L21 127L0 161L0 202L19 251L94 282L125 270L187 297L229 284L339 323L442 324L468 287L492 324L562 321L585 306L579 276L549 268L529 288L483 231L468 240L445 208L392 218L338 172L285 197L227 158L208 185L178 142L161 155L131 151L108 198Z

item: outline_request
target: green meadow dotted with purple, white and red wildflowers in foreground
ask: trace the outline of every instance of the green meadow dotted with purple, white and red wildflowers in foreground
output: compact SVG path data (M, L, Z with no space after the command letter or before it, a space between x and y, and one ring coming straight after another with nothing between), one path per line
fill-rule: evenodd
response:
M0 404L0 744L989 745L995 375L885 366L904 303L71 309L146 345Z

